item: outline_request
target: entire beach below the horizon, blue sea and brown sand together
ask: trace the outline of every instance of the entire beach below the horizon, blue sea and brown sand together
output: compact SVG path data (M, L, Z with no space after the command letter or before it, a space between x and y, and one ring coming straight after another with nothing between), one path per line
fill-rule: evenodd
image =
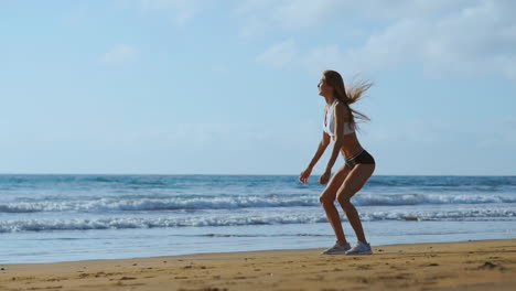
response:
M515 176L373 176L374 255L294 175L0 175L0 290L515 290ZM356 237L342 216L346 238Z

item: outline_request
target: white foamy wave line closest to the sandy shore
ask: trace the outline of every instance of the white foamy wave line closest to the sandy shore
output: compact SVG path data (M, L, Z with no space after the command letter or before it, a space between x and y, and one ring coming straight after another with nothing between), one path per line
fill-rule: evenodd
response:
M448 212L364 212L365 222L374 220L516 220L516 209L466 209ZM343 218L344 219L344 218ZM130 229L166 227L211 227L326 223L324 214L275 214L250 216L108 217L80 219L20 219L0 222L0 233Z

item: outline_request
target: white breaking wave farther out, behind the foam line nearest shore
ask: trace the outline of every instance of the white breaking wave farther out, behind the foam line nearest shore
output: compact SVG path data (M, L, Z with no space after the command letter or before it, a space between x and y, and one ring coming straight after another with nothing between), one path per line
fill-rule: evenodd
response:
M404 206L434 204L485 204L516 203L512 195L482 194L395 194L376 195L362 194L353 198L358 206ZM35 213L35 212L155 212L181 209L235 209L264 207L299 207L319 206L314 195L271 195L271 196L176 196L162 198L148 197L109 197L90 201L50 201L12 202L0 204L0 213Z

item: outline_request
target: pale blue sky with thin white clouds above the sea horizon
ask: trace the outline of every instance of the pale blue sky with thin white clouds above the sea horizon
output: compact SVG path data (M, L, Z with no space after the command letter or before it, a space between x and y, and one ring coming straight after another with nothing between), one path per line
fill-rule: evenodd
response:
M516 1L0 1L0 173L299 174L324 69L377 175L516 174ZM315 166L320 174L330 148ZM338 158L334 170L343 164Z

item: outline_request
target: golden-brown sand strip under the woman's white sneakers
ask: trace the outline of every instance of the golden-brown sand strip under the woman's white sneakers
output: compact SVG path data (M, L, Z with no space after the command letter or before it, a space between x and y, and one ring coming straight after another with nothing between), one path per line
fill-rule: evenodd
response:
M2 265L0 290L516 290L516 239Z

